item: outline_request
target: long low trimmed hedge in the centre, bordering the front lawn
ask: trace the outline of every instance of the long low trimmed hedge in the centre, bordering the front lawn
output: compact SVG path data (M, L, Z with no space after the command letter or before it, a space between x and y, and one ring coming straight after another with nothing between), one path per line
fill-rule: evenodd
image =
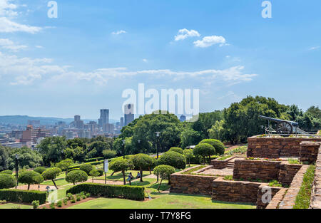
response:
M76 195L80 192L87 192L93 196L113 197L133 200L145 199L145 187L135 187L126 185L103 185L94 183L83 183L69 188L66 194Z

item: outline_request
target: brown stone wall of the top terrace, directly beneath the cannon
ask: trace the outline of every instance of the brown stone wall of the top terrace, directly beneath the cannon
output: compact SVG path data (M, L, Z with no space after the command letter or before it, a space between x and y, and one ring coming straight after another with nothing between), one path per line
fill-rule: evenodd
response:
M300 157L302 141L321 142L321 138L248 138L248 157L279 158Z

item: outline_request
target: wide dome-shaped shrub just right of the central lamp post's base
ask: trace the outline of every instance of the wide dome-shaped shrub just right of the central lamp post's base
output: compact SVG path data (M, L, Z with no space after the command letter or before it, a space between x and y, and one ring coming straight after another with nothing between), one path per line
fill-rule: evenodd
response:
M156 165L169 165L176 169L185 169L186 159L178 152L165 152L156 162Z

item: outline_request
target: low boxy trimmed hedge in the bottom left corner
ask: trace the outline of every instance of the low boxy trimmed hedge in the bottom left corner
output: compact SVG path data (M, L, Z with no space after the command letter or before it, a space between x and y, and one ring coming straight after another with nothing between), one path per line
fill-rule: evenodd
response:
M36 190L13 190L3 189L0 190L0 199L7 202L24 202L32 203L34 200L39 200L40 204L46 203L47 192Z

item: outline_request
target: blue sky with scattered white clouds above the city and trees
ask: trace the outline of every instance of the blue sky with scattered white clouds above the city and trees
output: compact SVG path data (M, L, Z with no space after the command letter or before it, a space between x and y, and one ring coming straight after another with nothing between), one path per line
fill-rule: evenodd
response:
M200 89L200 111L247 95L320 105L321 2L0 0L0 115L122 115L123 90Z

